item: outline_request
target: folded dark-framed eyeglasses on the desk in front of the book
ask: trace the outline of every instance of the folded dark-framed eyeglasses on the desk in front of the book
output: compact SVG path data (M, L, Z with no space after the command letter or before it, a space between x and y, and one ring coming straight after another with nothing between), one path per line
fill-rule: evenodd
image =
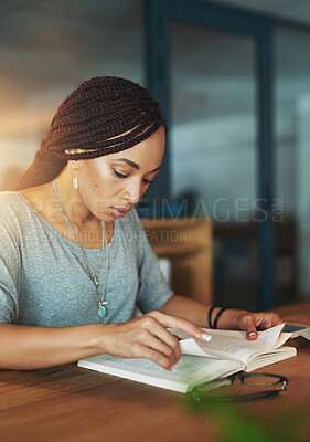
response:
M244 391L242 393L238 382L233 386L235 380L239 380L245 387L243 387ZM196 402L207 400L218 402L243 402L277 396L280 391L286 390L288 380L285 376L236 373L227 378L200 383L191 390L191 396ZM214 393L213 390L217 388L221 388L220 392L216 390L216 393Z

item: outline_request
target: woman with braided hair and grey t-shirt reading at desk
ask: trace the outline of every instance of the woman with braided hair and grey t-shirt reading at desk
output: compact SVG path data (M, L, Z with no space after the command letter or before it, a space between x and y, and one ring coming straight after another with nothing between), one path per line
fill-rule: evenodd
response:
M277 315L173 295L133 209L160 170L165 124L148 92L96 77L60 106L15 192L0 197L0 367L36 369L97 354L180 358L172 327L257 329ZM143 313L135 316L136 305ZM217 324L214 324L217 323Z

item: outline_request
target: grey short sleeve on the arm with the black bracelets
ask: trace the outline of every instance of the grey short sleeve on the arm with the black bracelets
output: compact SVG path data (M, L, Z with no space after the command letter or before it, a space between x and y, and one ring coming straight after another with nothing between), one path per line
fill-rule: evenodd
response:
M160 271L158 257L149 244L141 221L137 212L133 212L139 252L139 290L137 305L139 309L146 314L150 311L159 309L173 295L173 292Z

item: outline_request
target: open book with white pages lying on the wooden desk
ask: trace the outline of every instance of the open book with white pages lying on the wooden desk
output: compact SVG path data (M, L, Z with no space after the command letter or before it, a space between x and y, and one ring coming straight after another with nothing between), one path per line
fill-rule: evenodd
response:
M210 343L179 332L170 330L180 338L181 359L174 371L168 371L148 359L124 359L98 355L78 361L78 367L119 376L138 382L170 390L186 392L203 381L226 377L237 371L252 371L269 364L296 356L293 347L282 347L290 338L279 325L259 332L256 340L248 340L245 332L210 330Z

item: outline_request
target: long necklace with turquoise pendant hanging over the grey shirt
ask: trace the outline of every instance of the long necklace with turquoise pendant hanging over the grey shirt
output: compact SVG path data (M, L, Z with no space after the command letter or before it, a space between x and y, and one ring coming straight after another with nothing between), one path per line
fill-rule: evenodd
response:
M64 220L65 220L65 222L67 223L67 225L68 225L68 228L70 228L70 230L71 230L71 233L72 233L72 235L73 235L73 238L74 238L75 243L76 243L76 244L78 245L78 248L79 248L79 251L81 251L83 261L84 261L84 263L85 263L87 273L88 273L90 280L93 281L93 283L94 283L94 285L95 285L96 297L97 297L97 302L98 302L98 317L99 317L99 322L100 322L100 320L104 319L104 317L105 317L106 314L107 314L106 305L108 304L108 301L105 301L105 297L106 297L106 287L107 287L107 276L108 276L108 264L109 264L108 246L107 246L107 245L108 245L108 240L107 240L107 233L106 233L105 223L104 223L104 221L101 221L101 227L103 227L103 246L101 246L101 254L100 254L100 257L99 257L98 266L97 266L96 270L94 270L93 266L92 266L92 264L90 264L90 262L89 262L89 260L88 260L88 257L86 256L86 254L85 254L85 252L84 252L82 245L79 244L79 242L78 242L78 240L77 240L77 236L76 236L76 234L75 234L75 231L74 231L74 229L73 229L72 223L70 222L70 220L68 220L68 218L67 218L67 215L66 215L66 213L65 213L65 210L64 210L63 204L62 204L62 202L61 202L61 200L60 200L60 197L58 197L58 192L57 192L57 189L56 189L56 183L55 183L55 181L52 182L52 187L53 187L53 192L54 192L54 197L55 197L56 203L57 203L58 208L61 209L61 212L62 212L62 214L63 214L63 217L64 217ZM105 251L106 251L106 253L105 253ZM105 275L105 276L106 276L106 277L105 277L105 283L104 283L103 296L100 297L100 295L99 295L99 290L98 290L98 286L99 286L98 272L99 272L99 270L100 270L104 255L106 256L106 257L105 257L105 265L106 265L106 275Z

